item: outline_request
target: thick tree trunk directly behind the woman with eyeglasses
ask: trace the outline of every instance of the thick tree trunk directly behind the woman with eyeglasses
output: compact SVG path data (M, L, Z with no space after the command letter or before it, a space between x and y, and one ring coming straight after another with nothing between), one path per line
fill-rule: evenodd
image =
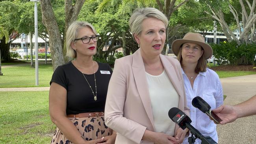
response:
M49 35L49 45L52 54L52 66L53 70L55 70L59 65L64 64L62 39L50 0L40 0L40 3L42 21Z

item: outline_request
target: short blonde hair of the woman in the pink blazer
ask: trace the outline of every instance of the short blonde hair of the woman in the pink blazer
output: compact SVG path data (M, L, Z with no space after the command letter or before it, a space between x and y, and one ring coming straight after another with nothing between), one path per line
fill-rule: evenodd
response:
M129 20L130 31L133 37L141 33L141 24L146 18L158 18L165 24L165 28L168 26L168 18L158 9L152 7L139 8L132 13Z

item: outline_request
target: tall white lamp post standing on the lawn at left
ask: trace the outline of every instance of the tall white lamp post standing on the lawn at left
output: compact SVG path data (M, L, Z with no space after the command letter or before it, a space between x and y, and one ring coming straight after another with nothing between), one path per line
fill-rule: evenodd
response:
M30 2L35 2L35 85L38 86L38 27L37 27L37 2L39 0L30 0Z

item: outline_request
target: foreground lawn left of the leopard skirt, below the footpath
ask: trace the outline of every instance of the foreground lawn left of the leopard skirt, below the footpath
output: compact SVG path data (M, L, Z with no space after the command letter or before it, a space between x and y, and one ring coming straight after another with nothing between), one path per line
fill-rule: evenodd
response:
M0 144L49 144L48 91L0 92Z

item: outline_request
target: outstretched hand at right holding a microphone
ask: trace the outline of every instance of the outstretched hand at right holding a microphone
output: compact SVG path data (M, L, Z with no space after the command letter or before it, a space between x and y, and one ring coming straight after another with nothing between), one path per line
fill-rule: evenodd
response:
M238 118L235 107L231 105L221 105L214 109L213 112L222 119L220 124L234 122Z

